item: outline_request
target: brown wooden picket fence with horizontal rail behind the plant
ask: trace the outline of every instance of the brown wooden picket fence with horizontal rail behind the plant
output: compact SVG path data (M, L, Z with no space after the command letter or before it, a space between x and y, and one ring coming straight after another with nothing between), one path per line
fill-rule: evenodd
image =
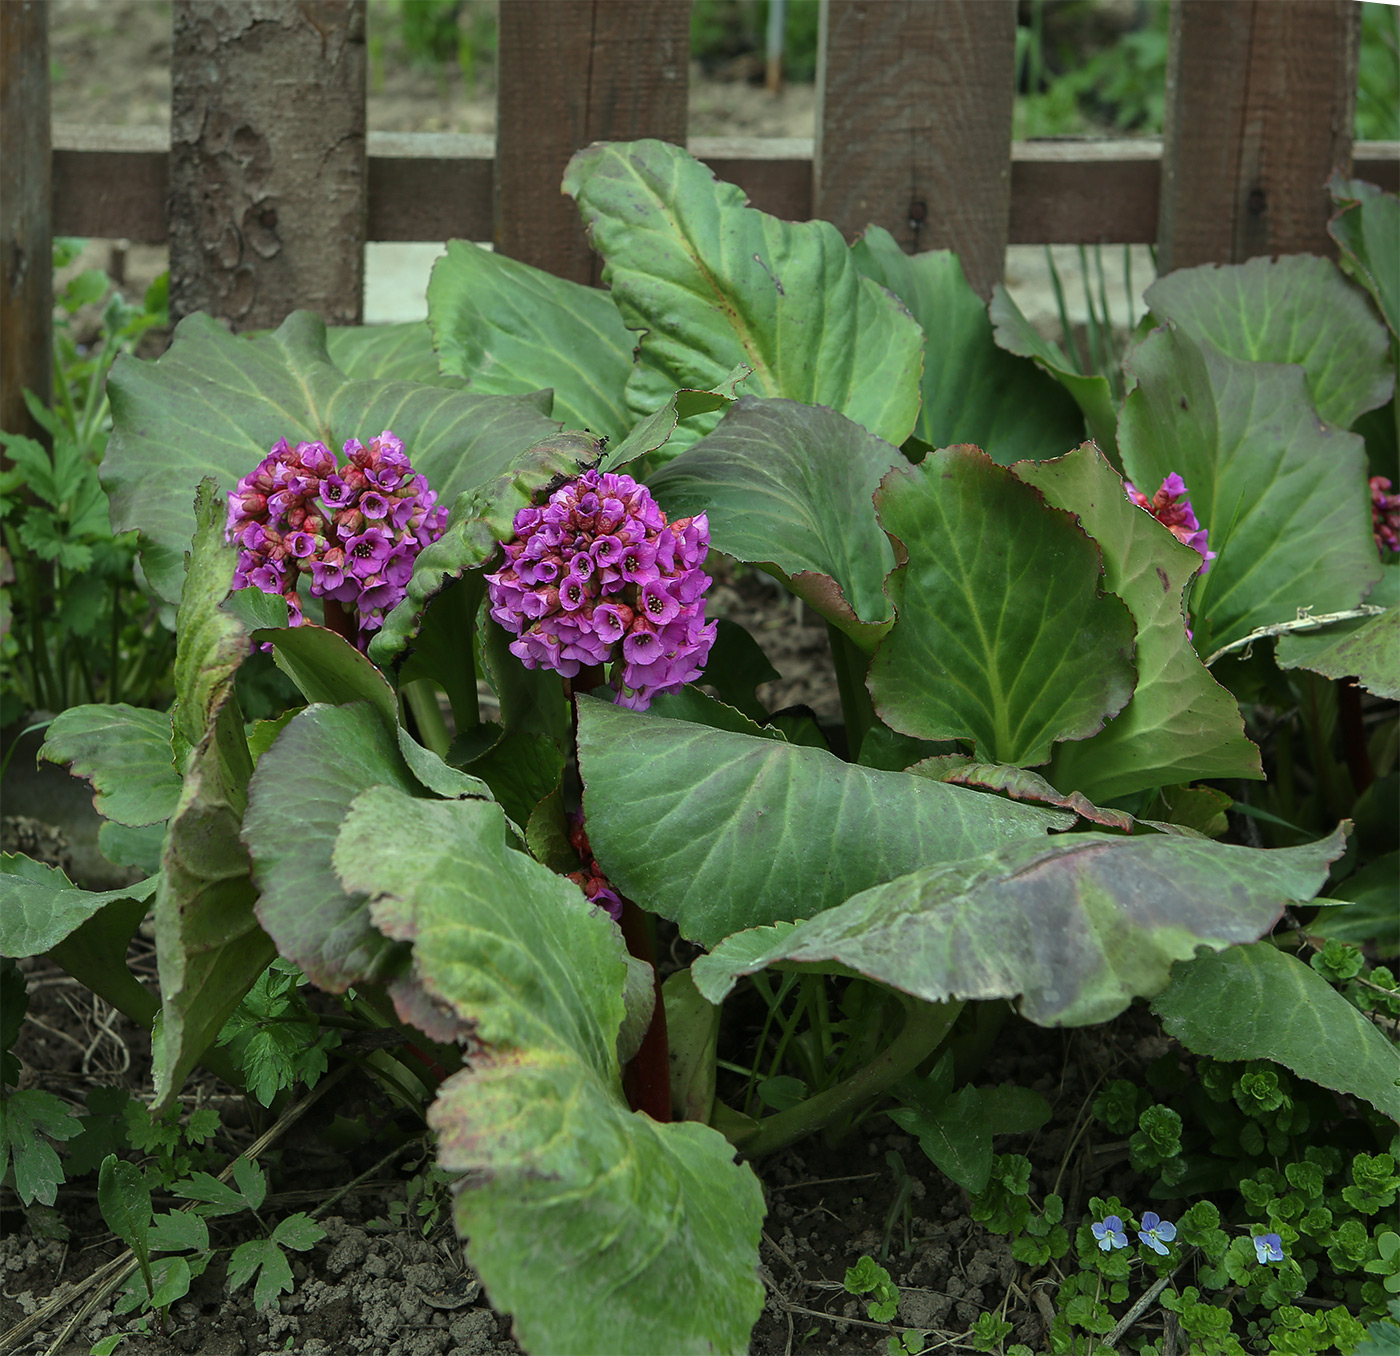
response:
M59 119L50 150L46 6L4 0L3 427L48 389L53 232L168 241L175 313L249 329L357 320L365 241L491 239L596 281L559 190L595 140L689 144L767 211L953 248L983 294L1008 243L1329 252L1334 168L1400 188L1400 146L1352 146L1354 0L1173 0L1161 140L1015 144L1014 0L823 0L812 140L687 143L689 8L500 0L483 137L365 133L364 0L175 0L169 139Z

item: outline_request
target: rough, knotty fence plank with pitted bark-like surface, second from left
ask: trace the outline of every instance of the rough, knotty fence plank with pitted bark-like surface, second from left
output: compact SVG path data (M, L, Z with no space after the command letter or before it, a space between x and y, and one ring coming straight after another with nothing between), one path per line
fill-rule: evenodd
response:
M176 0L171 311L361 315L364 0Z

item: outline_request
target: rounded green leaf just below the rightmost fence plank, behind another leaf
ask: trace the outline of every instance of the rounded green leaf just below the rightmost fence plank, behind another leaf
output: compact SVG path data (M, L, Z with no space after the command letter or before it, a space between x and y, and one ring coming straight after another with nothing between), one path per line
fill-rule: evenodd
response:
M1330 259L1282 255L1182 269L1158 278L1144 301L1232 358L1299 364L1317 413L1337 428L1351 428L1394 390L1385 326Z

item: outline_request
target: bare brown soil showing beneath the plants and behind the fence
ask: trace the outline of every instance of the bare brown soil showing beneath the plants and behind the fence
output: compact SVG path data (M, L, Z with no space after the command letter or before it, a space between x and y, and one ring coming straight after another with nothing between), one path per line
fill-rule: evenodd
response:
M168 123L169 6L162 0L53 0L53 111L60 122ZM396 60L392 45L371 46L372 130L490 132L489 80L466 88L458 71L424 78ZM813 91L791 87L780 98L743 81L692 83L692 132L811 136ZM99 246L105 249L105 246ZM97 262L105 262L99 257ZM130 283L141 285L164 263L160 250L129 256ZM727 575L717 610L745 624L783 675L760 690L770 707L806 704L822 719L839 714L825 627L759 575ZM137 935L129 957L154 978L150 936ZM15 1052L22 1085L56 1093L81 1108L92 1086L148 1092L150 1043L144 1031L67 980L43 959L27 963L29 1022ZM1058 1189L1071 1217L1089 1195L1133 1187L1126 1149L1096 1145L1082 1133L1099 1080L1133 1076L1168 1043L1140 1013L1107 1027L1046 1031L1015 1019L1004 1027L983 1085L1015 1082L1053 1106L1036 1136L1007 1138L998 1152L1028 1153L1033 1189ZM232 1154L263 1128L266 1115L211 1078L192 1082L188 1106L216 1106L224 1121L220 1149ZM358 1147L329 1150L332 1125L365 1128ZM396 1122L360 1075L318 1100L267 1154L269 1209L315 1210L326 1238L300 1254L295 1290L270 1310L253 1308L248 1287L225 1290L227 1247L252 1234L225 1230L225 1247L176 1303L165 1332L154 1321L118 1317L112 1296L84 1289L123 1247L102 1222L95 1181L78 1178L59 1192L56 1212L25 1212L13 1191L0 1192L0 1334L32 1315L39 1321L8 1348L15 1353L87 1356L102 1336L127 1334L125 1356L507 1356L519 1348L510 1321L484 1301L461 1244L445 1219L427 1227L389 1229L382 1222L403 1202L417 1128ZM386 1145L405 1147L388 1161ZM1072 1154L1071 1154L1071 1145ZM907 1174L899 1192L900 1174ZM223 1161L223 1160L221 1160ZM889 1324L864 1318L864 1306L841 1287L846 1268L862 1254L882 1261L900 1286L899 1325L927 1329L930 1350L970 1350L962 1338L984 1310L1004 1310L1015 1324L1008 1341L1043 1349L1044 1297L1053 1276L1016 1264L1004 1240L967 1217L965 1194L939 1174L907 1135L883 1117L840 1145L806 1145L756 1164L769 1199L762 1251L767 1306L755 1329L755 1356L790 1352L883 1352ZM157 1209L174 1202L157 1202ZM101 1296L90 1304L94 1296ZM1154 1322L1144 1320L1148 1329Z

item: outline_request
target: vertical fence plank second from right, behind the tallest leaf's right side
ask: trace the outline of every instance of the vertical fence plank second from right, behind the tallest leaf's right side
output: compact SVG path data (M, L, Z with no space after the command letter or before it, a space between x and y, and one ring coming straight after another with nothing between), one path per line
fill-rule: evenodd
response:
M956 249L984 297L1011 217L1014 0L823 0L818 217Z

